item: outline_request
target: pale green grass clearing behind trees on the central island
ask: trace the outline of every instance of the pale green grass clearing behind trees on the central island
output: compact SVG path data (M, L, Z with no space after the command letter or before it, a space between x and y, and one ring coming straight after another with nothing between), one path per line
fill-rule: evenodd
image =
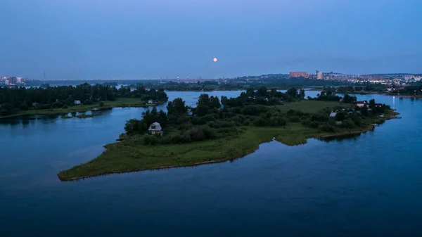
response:
M338 106L346 106L343 103L337 101L297 101L286 103L284 105L276 105L276 108L279 108L282 112L287 112L288 110L302 110L307 113L316 113L324 108L333 109Z

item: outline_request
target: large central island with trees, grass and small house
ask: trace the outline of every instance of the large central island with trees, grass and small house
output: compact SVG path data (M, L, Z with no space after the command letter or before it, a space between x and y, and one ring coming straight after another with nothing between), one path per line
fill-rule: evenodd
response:
M360 134L397 113L376 101L356 101L330 91L305 99L295 88L250 88L237 98L202 94L195 108L182 98L127 121L120 142L106 145L94 160L58 174L71 181L103 174L224 162L242 158L261 143L300 145L309 138Z

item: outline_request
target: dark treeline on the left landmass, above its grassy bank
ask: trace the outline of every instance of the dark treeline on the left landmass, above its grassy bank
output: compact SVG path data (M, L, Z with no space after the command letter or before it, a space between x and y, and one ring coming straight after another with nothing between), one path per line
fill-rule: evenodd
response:
M81 84L76 87L46 86L31 87L0 87L0 117L13 115L27 110L49 110L55 108L68 108L79 101L82 105L104 101L115 101L118 98L139 98L139 101L167 101L164 89L145 89L143 86L136 87L134 91L130 87L110 87L101 84ZM77 104L79 104L79 102Z

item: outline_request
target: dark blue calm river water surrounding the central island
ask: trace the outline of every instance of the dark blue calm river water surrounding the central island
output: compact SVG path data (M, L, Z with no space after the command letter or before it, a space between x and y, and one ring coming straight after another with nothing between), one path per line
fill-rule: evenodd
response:
M200 92L168 95L194 105ZM143 108L1 120L0 236L421 236L422 100L358 98L403 118L354 139L72 182L56 174L99 155Z

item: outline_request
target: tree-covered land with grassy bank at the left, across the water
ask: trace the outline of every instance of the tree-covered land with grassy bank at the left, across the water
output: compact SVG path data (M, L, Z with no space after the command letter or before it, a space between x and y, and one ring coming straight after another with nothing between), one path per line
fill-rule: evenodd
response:
M0 118L20 115L62 115L115 107L147 107L166 103L164 89L143 86L110 87L101 84L81 84L76 87L4 87L0 88ZM92 115L78 115L80 118Z

